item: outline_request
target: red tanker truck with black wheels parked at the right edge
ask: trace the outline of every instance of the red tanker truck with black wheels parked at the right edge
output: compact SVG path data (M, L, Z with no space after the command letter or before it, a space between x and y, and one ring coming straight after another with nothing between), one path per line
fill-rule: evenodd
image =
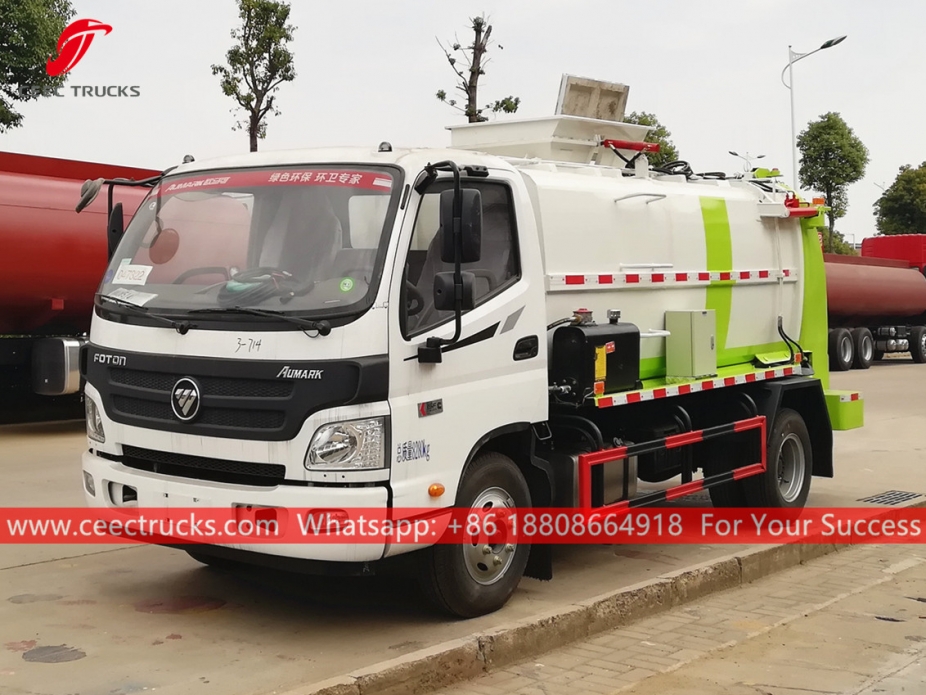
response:
M926 362L926 235L865 239L825 254L830 368L868 369L889 352Z

